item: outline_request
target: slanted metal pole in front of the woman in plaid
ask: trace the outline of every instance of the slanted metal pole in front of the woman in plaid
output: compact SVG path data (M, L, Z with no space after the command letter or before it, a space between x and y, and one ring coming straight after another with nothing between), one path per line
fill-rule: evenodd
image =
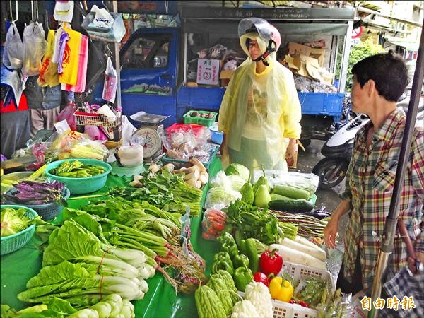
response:
M393 249L394 235L396 234L397 218L399 216L399 203L401 199L402 187L404 185L406 165L408 165L409 153L411 151L411 140L415 121L418 112L418 103L420 101L421 88L423 86L423 47L424 47L424 28L421 28L420 49L416 62L416 71L413 74L413 83L411 89L411 100L409 100L408 114L406 115L406 124L404 138L402 139L401 153L396 168L396 178L394 179L393 195L391 196L389 213L384 224L384 235L382 247L379 250L374 282L372 283L372 302L373 303L382 291L382 276L387 267L387 260ZM377 316L375 316L377 314ZM368 312L368 318L378 317L378 310L371 307Z

